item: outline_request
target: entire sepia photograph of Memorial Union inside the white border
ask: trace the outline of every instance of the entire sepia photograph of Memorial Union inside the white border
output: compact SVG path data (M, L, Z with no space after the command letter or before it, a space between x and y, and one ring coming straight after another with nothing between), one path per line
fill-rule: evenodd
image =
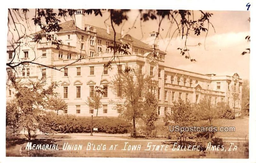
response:
M246 4L6 9L5 156L248 159Z

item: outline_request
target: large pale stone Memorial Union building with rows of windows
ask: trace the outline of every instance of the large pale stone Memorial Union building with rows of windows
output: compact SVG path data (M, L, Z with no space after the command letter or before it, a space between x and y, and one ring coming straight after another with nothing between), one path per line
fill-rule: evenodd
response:
M113 56L113 51L108 45L114 41L114 32L109 27L103 29L86 25L85 15L81 11L76 12L76 22L70 20L62 23L61 27L60 31L50 33L52 38L63 41L60 49L47 41L44 33L42 33L42 41L36 43L33 41L36 34L34 33L30 36L22 36L17 41L20 43L20 48L19 51L16 50L15 58L13 58L13 47L7 47L7 62L12 59L34 61L56 68L68 65L63 69L64 72L36 64L25 64L17 69L18 83L26 84L42 77L46 78L47 82L58 82L59 87L56 91L68 104L64 114L83 116L96 114L86 104L86 100L94 92L95 86L101 85L104 87L101 100L103 107L99 109L98 116L118 116L115 106L120 101L120 97L111 91L108 85L118 73L118 69L128 64L154 78L156 84L151 89L157 93L159 116L164 115L165 111L171 112L175 100L181 98L184 101L199 102L204 93L209 91L213 104L227 102L236 116L241 115L242 79L237 73L231 76L217 76L169 67L165 61L165 55L168 54L158 49L155 41L156 32L150 33L149 43L139 41L130 34L116 33L117 44L129 44L128 51L131 54L119 54L116 58L118 64L112 64L113 69L109 70L104 68L104 64ZM153 52L157 54L158 59L152 59ZM83 59L76 62L81 56ZM13 97L11 87L7 86L6 92L7 100Z

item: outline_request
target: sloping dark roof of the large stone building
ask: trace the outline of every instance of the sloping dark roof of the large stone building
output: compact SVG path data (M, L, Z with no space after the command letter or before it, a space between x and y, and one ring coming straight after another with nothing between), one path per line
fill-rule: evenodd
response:
M69 21L66 21L64 23L61 23L60 26L62 27L62 29L60 31L58 31L58 32L74 31L74 30L85 32L84 30L78 28L75 25L74 20L69 20ZM86 24L85 26L89 26L89 25ZM107 38L107 39L111 39L111 40L114 39L114 31L110 30L110 33L108 34L107 33L107 29L100 28L100 27L97 27L97 26L95 26L95 27L96 27L96 33L97 33L98 36L104 37L104 38ZM41 33L41 32L42 31L39 31L39 32L36 32L36 33ZM36 33L32 33L32 35L36 34ZM121 34L120 33L116 33L116 40L120 40L120 39L121 39ZM152 49L151 45L148 45L145 42L142 42L142 41L140 41L140 40L138 40L138 39L136 39L134 37L132 37L131 44L132 45L136 45L136 46L140 46L140 47L143 47L143 48ZM159 51L161 51L161 50L159 50ZM163 52L163 51L161 51L161 52Z

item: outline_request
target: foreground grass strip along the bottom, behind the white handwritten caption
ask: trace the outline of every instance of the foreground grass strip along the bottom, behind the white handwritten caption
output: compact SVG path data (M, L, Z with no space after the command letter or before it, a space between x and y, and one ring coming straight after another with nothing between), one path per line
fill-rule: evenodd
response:
M237 151L222 152L222 151L172 151L173 142L168 141L154 141L155 145L169 145L167 151L145 151L147 149L148 141L134 141L134 140L54 140L54 139L33 139L35 144L58 144L59 151L44 151L44 150L30 150L32 157L135 157L135 158L248 158L246 152L247 143L236 143ZM82 144L83 148L80 151L62 150L63 144ZM124 143L128 142L130 145L141 145L139 151L124 151ZM6 142L10 144L10 142ZM19 139L15 144L9 145L6 148L6 156L28 156L28 151L23 150L20 153L20 147L25 149L28 143L25 139ZM87 150L87 144L106 144L106 150ZM118 144L116 150L109 150L111 145ZM227 144L228 146L228 144ZM228 147L227 147L228 148ZM152 149L152 147L151 147Z

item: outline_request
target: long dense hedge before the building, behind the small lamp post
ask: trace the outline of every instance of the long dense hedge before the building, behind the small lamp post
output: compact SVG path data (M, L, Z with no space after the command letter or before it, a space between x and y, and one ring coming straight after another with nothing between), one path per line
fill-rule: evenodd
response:
M50 119L50 128L60 133L89 133L91 132L91 117L77 117L75 115L57 115L45 114L42 115L44 120ZM51 116L49 118L48 116ZM46 118L47 117L47 118ZM53 121L54 120L54 121ZM45 128L48 128L45 125ZM93 128L98 128L99 132L110 134L127 133L131 124L117 117L94 117Z

